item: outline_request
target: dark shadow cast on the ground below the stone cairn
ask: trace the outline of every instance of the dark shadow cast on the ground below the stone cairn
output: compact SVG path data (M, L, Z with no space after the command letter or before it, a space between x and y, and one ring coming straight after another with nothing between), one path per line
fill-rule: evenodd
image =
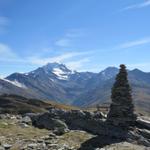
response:
M103 131L101 130L97 136L82 143L78 150L95 150L96 148L127 141L129 128L113 126L108 124L107 121L104 122L104 127Z

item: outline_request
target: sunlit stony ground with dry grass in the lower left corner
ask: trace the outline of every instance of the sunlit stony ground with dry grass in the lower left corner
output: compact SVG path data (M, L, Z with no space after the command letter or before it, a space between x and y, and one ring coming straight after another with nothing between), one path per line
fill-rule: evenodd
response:
M51 130L33 127L28 117L19 115L2 115L0 119L0 150L72 150L92 137L73 130L58 136Z

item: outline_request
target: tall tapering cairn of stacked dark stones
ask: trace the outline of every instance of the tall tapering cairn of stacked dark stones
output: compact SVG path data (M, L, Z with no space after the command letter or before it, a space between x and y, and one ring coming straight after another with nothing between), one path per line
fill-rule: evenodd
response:
M134 125L136 115L125 65L120 65L120 71L112 88L111 99L107 122L119 127Z

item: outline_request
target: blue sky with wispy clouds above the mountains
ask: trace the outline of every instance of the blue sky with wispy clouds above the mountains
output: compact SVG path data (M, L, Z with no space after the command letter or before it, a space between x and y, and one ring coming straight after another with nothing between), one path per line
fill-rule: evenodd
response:
M0 75L48 62L150 72L150 0L0 0Z

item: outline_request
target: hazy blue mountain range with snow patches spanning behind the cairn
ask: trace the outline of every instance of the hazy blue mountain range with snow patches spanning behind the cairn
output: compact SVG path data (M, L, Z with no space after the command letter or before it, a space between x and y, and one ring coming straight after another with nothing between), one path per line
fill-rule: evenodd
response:
M48 63L28 73L13 73L0 79L0 94L53 100L77 106L109 102L118 68L108 67L99 73L77 72L64 64ZM150 108L150 73L128 70L135 104Z

